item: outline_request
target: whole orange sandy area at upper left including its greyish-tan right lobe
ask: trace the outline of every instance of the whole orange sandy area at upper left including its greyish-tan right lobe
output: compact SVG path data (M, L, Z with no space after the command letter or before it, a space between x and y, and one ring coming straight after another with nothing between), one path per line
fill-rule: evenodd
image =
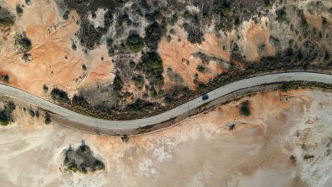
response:
M16 0L5 4L16 12L16 5L24 3ZM16 25L0 32L6 38L1 41L0 74L9 74L9 84L44 97L43 84L73 94L79 87L96 81L113 81L113 63L106 46L96 47L85 55L75 36L79 30L77 21L79 16L74 11L64 20L54 1L34 0L25 6L22 16L16 18ZM32 57L30 62L22 60L23 53L13 46L16 35L24 32L32 42L28 52ZM77 50L72 50L73 43ZM82 64L86 64L87 71Z

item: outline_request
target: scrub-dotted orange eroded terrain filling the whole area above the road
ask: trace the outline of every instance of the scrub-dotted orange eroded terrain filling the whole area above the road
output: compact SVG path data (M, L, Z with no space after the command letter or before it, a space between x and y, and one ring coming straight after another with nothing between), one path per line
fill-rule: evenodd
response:
M98 118L269 71L331 73L331 2L1 0L0 80Z

